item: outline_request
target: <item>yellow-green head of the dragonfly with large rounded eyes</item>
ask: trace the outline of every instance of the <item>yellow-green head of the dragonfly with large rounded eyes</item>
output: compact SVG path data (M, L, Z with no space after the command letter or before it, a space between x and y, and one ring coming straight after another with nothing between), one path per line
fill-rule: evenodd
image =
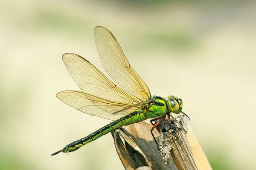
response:
M168 96L167 106L172 113L179 114L182 111L182 100L176 96Z

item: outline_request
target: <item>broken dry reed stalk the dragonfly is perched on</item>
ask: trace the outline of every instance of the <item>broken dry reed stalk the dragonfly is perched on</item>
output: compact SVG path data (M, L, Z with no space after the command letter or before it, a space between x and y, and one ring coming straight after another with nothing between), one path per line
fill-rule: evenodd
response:
M187 131L185 133L176 129L175 134L183 142L169 133L161 132L164 124L153 131L160 151L151 136L152 125L149 121L124 126L112 132L117 154L125 170L212 170L188 118L183 116L176 119L175 125ZM169 155L172 159L168 158Z

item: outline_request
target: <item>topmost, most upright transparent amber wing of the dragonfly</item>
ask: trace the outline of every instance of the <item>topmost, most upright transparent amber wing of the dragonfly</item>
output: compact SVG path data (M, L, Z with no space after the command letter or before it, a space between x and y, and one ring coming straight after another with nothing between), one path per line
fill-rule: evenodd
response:
M129 64L113 34L98 26L94 29L94 35L99 57L109 76L134 96L148 100L151 94L147 85Z

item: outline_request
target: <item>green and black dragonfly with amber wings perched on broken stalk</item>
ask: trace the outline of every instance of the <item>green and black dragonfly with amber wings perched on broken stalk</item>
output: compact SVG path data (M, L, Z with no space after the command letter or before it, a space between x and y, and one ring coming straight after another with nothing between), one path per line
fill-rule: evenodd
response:
M109 119L112 122L66 145L51 156L61 152L73 152L112 130L146 119L151 119L150 122L153 125L151 134L157 144L152 133L154 128L167 117L167 129L170 113L183 113L183 102L180 98L168 96L164 99L160 96L151 96L148 86L131 67L116 38L107 28L97 26L94 28L94 36L102 65L119 86L83 57L67 53L62 56L62 59L82 92L61 91L56 96L81 112ZM174 133L169 133L177 137Z

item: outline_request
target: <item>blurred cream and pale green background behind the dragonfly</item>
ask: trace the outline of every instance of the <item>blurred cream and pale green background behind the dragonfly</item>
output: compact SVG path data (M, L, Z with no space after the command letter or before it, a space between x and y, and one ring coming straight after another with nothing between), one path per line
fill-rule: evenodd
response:
M105 26L151 94L176 95L214 170L256 169L256 2L0 1L0 170L122 170L111 135L50 156L109 121L59 101L61 56L101 65Z

